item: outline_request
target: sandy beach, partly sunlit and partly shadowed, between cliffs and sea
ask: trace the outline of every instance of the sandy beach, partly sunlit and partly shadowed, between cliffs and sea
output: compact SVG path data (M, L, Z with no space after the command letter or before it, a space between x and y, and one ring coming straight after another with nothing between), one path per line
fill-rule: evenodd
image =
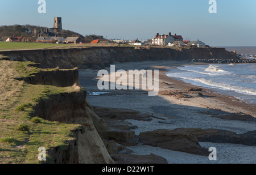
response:
M91 95L87 96L90 105L105 108L129 109L154 116L151 121L126 119L133 127L135 135L157 129L174 130L179 128L219 129L237 134L255 130L256 122L243 119L243 115L256 117L255 105L245 103L236 97L225 96L204 87L193 86L181 80L166 76L167 69L177 66L203 63L181 61L146 61L115 64L115 70L159 70L158 96L148 96L143 90L102 90L97 87L98 70L80 70L80 83ZM109 68L106 68L109 70ZM199 89L193 91L191 89ZM190 90L189 90L190 89ZM100 92L101 95L92 95ZM235 116L232 119L221 118ZM236 116L237 119L236 119ZM234 119L235 118L235 119ZM217 161L207 156L192 155L180 151L166 150L138 143L127 147L137 155L164 157L168 163L256 163L256 147L243 144L200 142L205 148L217 148ZM210 153L210 152L209 152Z

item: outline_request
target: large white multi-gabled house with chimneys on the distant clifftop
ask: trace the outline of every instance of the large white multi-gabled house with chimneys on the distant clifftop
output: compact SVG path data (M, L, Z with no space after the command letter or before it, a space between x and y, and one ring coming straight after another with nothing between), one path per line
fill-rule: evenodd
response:
M168 35L159 35L156 33L156 36L152 39L152 45L168 45L169 42L174 41L183 41L183 37L181 35L171 35L171 32Z

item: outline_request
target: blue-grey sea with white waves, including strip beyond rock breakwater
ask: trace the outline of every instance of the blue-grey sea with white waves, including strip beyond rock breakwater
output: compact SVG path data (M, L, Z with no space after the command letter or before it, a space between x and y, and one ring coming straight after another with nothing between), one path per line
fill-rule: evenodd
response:
M256 47L228 47L226 50L236 50L243 55L256 55ZM166 75L256 104L255 63L185 65L168 70Z

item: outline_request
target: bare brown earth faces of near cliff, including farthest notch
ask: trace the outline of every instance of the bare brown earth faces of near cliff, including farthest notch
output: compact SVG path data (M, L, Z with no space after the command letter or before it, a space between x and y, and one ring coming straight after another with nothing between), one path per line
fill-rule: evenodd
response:
M51 160L49 163L114 163L99 135L109 128L94 113L92 106L86 100L86 91L77 86L79 84L77 69L40 70L31 76L16 79L25 80L30 84L47 85L46 87L56 86L58 89L56 92L43 92L44 95L39 97L33 106L31 117L78 125L71 131L72 139L63 140L67 144L47 150ZM51 137L51 134L48 136Z

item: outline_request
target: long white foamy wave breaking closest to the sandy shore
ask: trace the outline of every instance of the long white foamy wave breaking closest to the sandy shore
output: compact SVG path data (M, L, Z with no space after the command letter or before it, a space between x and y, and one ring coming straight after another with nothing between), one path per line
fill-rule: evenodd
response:
M254 89L250 89L250 88L245 88L245 87L240 87L240 86L232 86L232 85L226 84L226 83L213 82L211 80L206 80L204 78L188 78L188 77L180 77L180 78L187 79L187 80L193 80L195 82L207 84L208 86L214 86L214 87L218 87L221 89L232 90L232 91L235 91L238 93L245 93L245 94L256 96L256 91Z

